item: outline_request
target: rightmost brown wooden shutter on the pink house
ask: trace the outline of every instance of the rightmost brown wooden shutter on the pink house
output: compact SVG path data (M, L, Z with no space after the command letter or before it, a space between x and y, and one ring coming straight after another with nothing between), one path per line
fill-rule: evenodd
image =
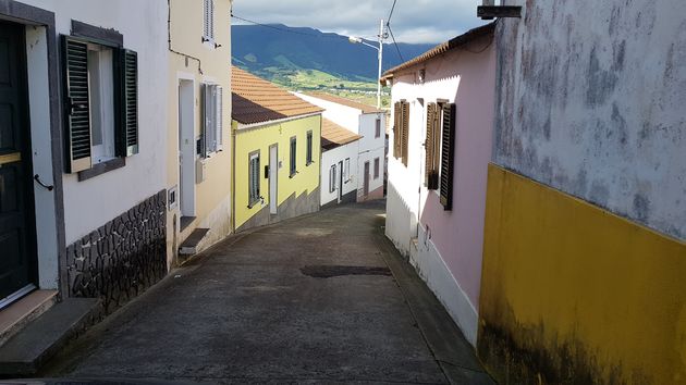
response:
M455 159L455 104L443 104L441 144L441 204L445 210L453 208L453 163Z

